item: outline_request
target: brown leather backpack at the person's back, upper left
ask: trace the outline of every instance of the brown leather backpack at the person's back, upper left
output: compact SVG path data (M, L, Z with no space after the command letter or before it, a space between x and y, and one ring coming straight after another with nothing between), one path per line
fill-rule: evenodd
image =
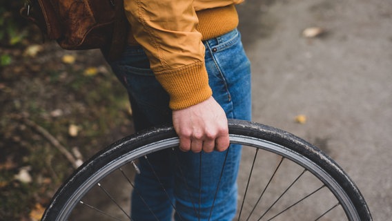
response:
M21 15L61 48L100 48L109 59L126 44L124 0L27 0Z

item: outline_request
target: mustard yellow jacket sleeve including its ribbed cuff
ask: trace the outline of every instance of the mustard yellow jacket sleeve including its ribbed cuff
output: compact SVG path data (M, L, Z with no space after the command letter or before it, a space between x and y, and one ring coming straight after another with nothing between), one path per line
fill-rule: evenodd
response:
M124 6L133 36L170 95L170 108L178 110L208 99L212 92L193 1L126 0Z

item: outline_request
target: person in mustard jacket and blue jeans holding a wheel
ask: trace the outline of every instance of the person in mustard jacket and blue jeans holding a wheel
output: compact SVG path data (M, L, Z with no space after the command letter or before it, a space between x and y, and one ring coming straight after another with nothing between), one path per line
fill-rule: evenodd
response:
M128 44L108 62L128 91L135 130L171 123L179 136L179 150L139 160L132 220L235 216L241 148L229 147L228 118L251 119L242 1L124 1Z

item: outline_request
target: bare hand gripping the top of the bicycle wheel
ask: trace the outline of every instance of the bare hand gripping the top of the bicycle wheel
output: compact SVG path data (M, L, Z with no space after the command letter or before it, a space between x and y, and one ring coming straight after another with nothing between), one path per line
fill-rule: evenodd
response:
M226 114L213 97L173 111L173 126L182 151L225 151L229 145Z

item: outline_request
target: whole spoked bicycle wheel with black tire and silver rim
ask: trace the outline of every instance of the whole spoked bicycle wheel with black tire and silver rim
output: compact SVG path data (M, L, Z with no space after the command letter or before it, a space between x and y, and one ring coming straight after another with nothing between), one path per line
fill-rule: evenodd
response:
M320 149L254 122L229 120L229 132L243 146L235 220L372 220L357 186ZM70 176L42 220L131 220L135 162L178 144L170 126L115 142Z

